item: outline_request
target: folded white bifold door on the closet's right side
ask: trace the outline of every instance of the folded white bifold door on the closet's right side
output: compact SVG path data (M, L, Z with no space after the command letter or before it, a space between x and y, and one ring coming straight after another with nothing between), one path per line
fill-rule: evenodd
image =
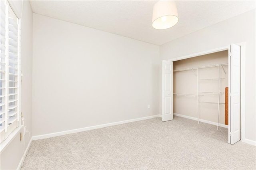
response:
M241 47L231 44L228 49L228 143L241 140Z

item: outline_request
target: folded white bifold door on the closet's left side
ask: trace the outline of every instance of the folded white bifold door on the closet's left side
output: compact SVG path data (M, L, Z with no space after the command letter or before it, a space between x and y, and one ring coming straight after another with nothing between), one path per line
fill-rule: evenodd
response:
M173 119L173 62L162 62L162 121Z

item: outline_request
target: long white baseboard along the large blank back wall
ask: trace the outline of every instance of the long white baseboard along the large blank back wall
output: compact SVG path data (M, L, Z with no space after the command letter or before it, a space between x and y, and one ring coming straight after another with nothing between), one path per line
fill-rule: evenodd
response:
M61 135L64 135L64 134L83 132L83 131L86 131L86 130L92 130L92 129L103 128L103 127L110 127L110 126L114 126L114 125L120 125L120 124L124 124L124 123L142 121L142 120L152 119L152 118L156 118L156 117L159 117L159 115L148 116L148 117L141 117L141 118L138 118L138 119L130 119L130 120L114 122L114 123L107 123L107 124L96 125L96 126L92 126L92 127L77 128L77 129L66 130L66 131L62 131L62 132L42 134L42 135L32 136L32 140L51 138L51 137L55 137L55 136L61 136Z

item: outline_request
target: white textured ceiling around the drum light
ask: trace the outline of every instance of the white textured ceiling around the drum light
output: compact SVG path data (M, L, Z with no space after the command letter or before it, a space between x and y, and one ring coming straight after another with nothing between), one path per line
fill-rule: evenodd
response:
M255 8L255 1L176 1L179 22L167 30L152 28L157 1L30 0L36 14L162 45ZM246 20L246 18L245 18Z

